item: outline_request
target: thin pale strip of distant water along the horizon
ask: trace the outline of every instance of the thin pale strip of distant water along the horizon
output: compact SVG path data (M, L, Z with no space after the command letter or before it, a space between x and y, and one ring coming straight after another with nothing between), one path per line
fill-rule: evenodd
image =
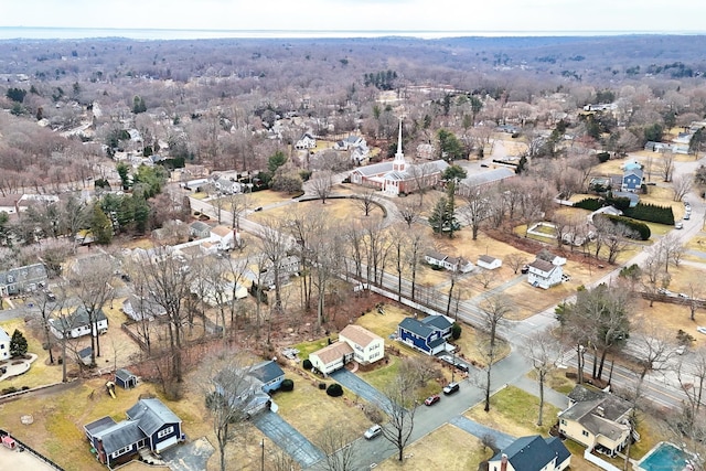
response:
M400 31L400 30L159 30L93 28L0 26L0 40L81 40L128 38L132 40L197 39L315 39L315 38L521 38L521 36L612 36L631 34L705 34L705 31Z

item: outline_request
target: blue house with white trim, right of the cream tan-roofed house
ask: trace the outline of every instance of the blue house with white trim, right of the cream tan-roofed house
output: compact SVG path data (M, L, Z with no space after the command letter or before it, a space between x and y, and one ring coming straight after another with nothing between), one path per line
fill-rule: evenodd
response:
M446 315L428 315L422 320L405 318L397 325L397 340L427 355L447 350L453 321Z

